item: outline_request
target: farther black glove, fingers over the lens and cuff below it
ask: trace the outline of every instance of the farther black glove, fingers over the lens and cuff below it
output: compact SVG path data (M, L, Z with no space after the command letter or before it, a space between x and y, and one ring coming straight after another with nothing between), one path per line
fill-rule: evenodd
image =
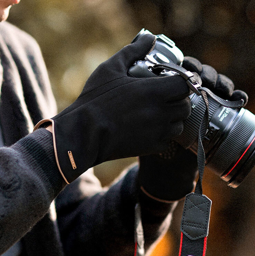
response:
M248 96L240 90L234 91L234 83L225 75L199 60L185 57L183 67L201 76L202 86L209 88L219 97L229 100L244 99ZM197 157L190 150L185 150L172 141L169 149L161 155L140 157L139 181L143 192L148 196L174 201L183 198L194 187L197 174Z

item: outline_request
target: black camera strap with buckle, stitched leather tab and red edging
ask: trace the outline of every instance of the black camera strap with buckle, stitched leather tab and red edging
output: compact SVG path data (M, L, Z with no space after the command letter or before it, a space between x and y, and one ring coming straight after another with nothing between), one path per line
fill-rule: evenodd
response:
M197 166L199 171L199 179L196 183L195 192L186 195L183 215L181 221L181 243L179 249L179 256L205 256L206 242L209 232L209 221L211 212L212 201L203 195L202 179L205 167L205 152L203 148L203 140L207 132L209 124L209 101L208 96L212 97L220 105L229 108L240 108L244 105L244 100L227 101L211 92L208 88L201 87L196 80L195 75L187 71L185 68L169 63L157 64L152 67L155 73L160 74L162 70L170 70L180 74L193 92L202 97L205 104L205 113L199 128L198 147L197 147ZM139 226L139 225L137 225ZM140 234L140 236L138 235ZM136 232L136 248L138 245L139 237L143 233ZM141 243L143 247L143 243ZM135 255L141 255L137 253Z

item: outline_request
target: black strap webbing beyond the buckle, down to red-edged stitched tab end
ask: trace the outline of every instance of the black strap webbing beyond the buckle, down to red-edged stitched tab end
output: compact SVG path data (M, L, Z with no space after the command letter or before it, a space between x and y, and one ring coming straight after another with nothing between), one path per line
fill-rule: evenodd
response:
M203 195L202 179L205 167L205 153L203 139L209 122L208 94L223 106L238 108L243 106L244 101L227 101L219 98L207 88L199 88L205 104L205 113L199 129L197 165L199 169L199 180L197 181L195 193L190 193L185 198L182 224L181 244L179 256L205 256L206 241L209 230L211 200Z

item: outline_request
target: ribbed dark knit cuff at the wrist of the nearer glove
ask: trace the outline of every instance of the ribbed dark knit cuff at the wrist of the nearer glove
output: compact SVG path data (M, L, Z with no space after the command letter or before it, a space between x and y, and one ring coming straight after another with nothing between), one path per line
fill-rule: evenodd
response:
M56 164L52 133L44 128L38 129L11 148L21 153L29 169L43 183L49 197L54 199L66 183Z

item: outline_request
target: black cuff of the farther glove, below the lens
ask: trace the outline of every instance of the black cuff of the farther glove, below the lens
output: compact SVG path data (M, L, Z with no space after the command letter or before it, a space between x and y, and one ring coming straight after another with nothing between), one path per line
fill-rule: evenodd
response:
M164 154L164 158L158 155L140 157L139 183L150 198L171 203L181 200L194 189L195 156L177 146L172 147L169 155Z

